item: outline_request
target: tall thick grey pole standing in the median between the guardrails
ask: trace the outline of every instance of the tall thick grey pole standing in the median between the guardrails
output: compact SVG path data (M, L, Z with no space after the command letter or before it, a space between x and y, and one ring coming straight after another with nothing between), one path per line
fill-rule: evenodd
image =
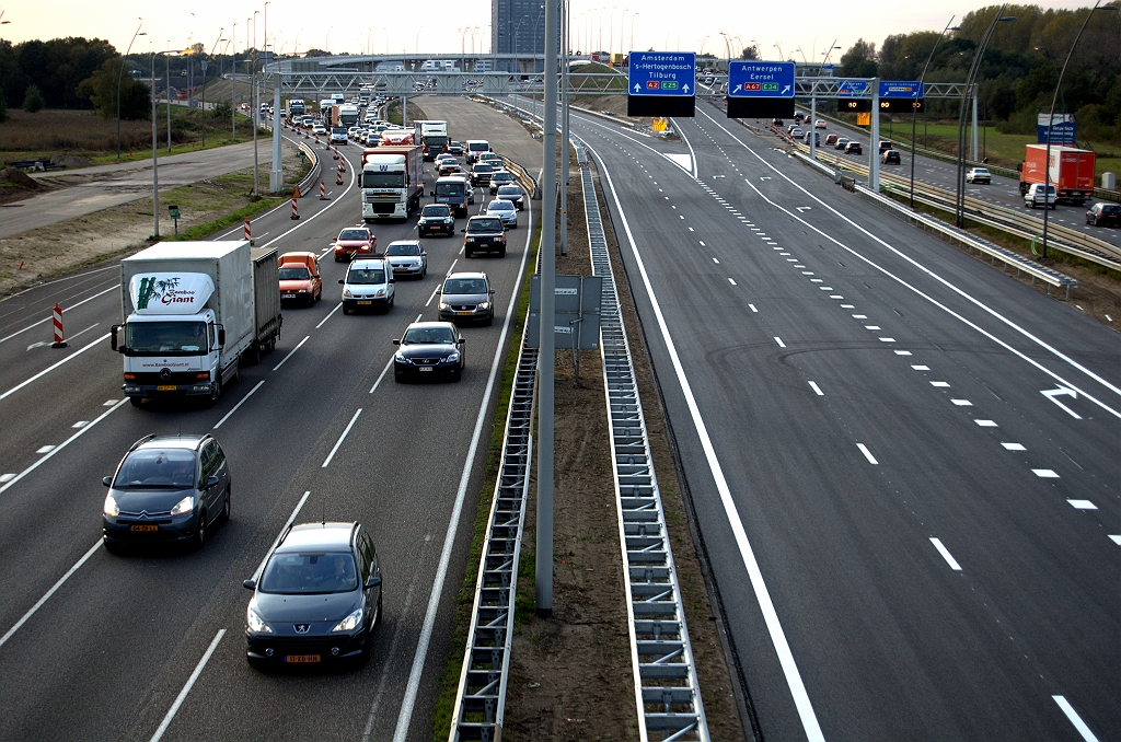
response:
M545 0L541 176L541 349L537 355L537 614L553 614L553 383L556 364L557 0ZM565 152L567 156L567 150Z

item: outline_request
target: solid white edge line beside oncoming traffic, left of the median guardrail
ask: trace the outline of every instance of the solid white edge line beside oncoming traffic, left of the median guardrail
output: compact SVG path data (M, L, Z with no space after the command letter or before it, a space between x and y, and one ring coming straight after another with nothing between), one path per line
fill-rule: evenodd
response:
M530 204L532 205L532 204ZM526 272L526 262L529 259L529 238L534 233L534 214L529 212L529 225L526 229L526 247L521 251L521 265L518 268L518 278L515 286L521 286L522 276ZM479 416L475 418L475 429L471 435L471 445L467 447L467 457L463 462L463 472L460 474L460 486L455 491L455 504L452 507L452 517L447 521L447 532L444 534L444 548L439 553L439 566L436 568L436 578L432 583L432 594L428 596L428 609L425 611L424 625L420 629L420 638L417 640L417 650L413 656L413 669L409 670L409 680L405 686L405 697L401 699L401 711L397 716L397 729L393 731L393 742L405 742L409 733L409 724L413 721L413 708L416 705L417 693L420 690L420 676L424 674L425 659L428 657L428 644L432 642L432 632L436 627L436 611L439 607L439 599L444 593L444 581L447 578L447 568L452 560L452 546L455 544L455 531L460 526L460 516L463 512L463 500L467 494L467 483L471 480L471 467L474 465L475 452L479 449L479 438L482 435L483 423L487 419L487 408L490 405L491 393L494 391L494 380L498 378L499 363L502 361L502 350L506 345L507 334L510 332L510 319L517 308L518 291L511 291L510 304L506 308L506 321L502 323L502 333L498 338L498 346L494 349L494 359L491 361L490 375L487 379L487 391L483 392L482 404L479 406Z

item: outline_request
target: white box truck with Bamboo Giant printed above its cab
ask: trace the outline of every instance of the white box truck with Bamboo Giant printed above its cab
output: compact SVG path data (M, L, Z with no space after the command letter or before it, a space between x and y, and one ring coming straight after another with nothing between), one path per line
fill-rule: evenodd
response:
M247 240L161 242L121 261L121 316L111 345L124 355L124 395L212 402L280 337L276 248Z

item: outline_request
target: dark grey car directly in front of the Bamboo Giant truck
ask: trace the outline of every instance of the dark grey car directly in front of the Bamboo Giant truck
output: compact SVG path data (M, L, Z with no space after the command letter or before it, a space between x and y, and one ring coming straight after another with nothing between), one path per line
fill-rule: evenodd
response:
M210 435L140 438L102 482L102 538L111 551L128 542L201 547L210 526L230 518L230 467Z

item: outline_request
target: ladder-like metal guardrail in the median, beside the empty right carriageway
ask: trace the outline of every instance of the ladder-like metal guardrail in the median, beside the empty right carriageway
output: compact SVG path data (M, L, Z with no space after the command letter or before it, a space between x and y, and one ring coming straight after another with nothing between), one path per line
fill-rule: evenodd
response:
M600 353L623 551L639 735L643 742L651 739L651 733L660 733L665 741L706 742L708 724L701 702L677 571L587 150L578 138L573 139L583 178L592 267L596 276L603 277Z

